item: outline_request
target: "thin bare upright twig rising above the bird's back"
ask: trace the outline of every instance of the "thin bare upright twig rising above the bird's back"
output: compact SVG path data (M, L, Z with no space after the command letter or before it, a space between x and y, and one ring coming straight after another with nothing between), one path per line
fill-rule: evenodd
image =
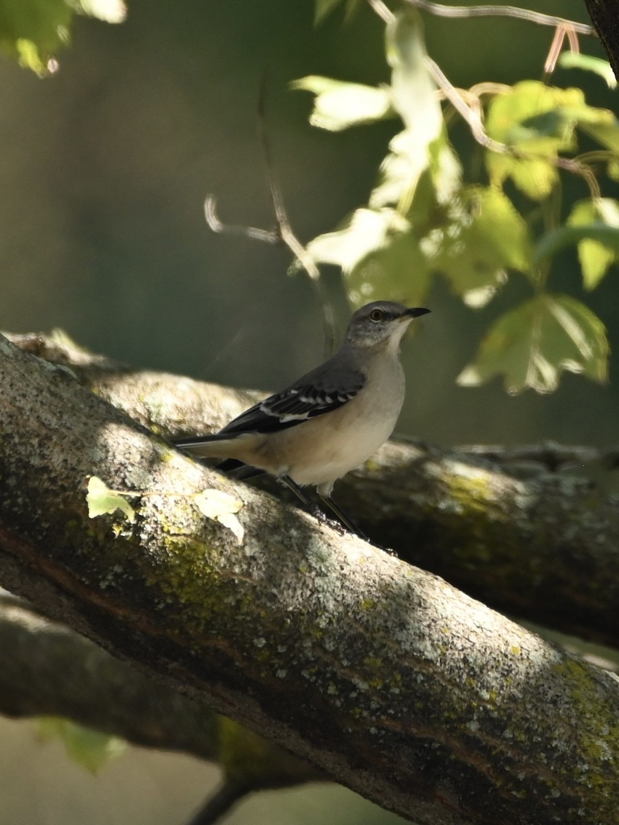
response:
M335 318L333 315L333 307L329 303L328 295L324 289L324 283L320 277L318 266L314 263L314 259L309 255L300 240L292 231L291 223L286 214L286 207L284 206L283 198L281 197L281 188L277 184L274 165L272 161L271 143L267 134L267 73L262 78L262 87L260 88L260 97L258 99L258 136L262 144L262 155L264 158L265 171L267 173L267 181L269 191L271 192L271 200L273 210L275 211L275 218L277 221L277 228L281 240L286 243L300 265L303 266L309 276L309 281L314 286L314 291L319 300L320 308L323 314L323 328L324 328L324 350L327 356L333 355L335 350Z

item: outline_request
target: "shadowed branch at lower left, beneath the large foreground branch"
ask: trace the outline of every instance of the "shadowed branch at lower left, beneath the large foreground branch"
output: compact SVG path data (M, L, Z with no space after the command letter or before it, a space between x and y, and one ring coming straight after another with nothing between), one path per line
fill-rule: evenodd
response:
M136 745L190 753L227 777L243 771L251 790L324 778L9 594L0 596L0 650L5 716L64 716Z

